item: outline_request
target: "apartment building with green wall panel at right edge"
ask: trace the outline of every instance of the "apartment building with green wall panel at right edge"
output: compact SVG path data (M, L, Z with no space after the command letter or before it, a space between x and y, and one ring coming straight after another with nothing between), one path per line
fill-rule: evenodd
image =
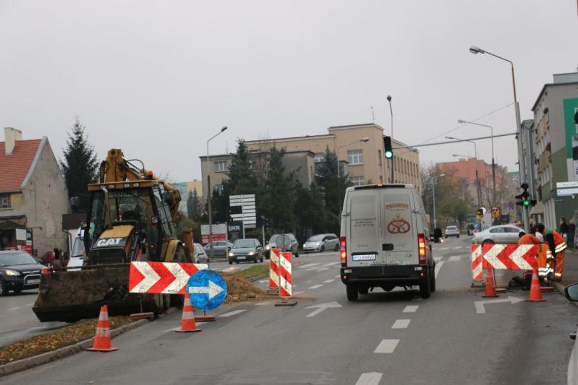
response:
M553 78L553 83L544 84L532 107L533 124L523 140L539 201L531 214L556 228L562 216L578 220L578 73L554 74Z

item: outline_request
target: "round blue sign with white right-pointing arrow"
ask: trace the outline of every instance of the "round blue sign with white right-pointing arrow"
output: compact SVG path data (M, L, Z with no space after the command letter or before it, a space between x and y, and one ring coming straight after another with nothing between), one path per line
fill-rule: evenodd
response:
M195 308L213 310L227 297L227 282L216 271L199 270L188 279L187 293Z

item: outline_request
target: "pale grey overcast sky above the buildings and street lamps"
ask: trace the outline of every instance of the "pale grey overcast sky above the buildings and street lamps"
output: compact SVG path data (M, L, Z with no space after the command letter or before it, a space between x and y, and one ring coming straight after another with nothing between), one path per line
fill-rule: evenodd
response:
M122 148L172 180L238 137L327 133L375 121L417 144L512 103L522 119L553 73L578 65L576 1L0 0L0 125L46 135L58 158L78 115L102 159ZM578 91L577 91L578 94ZM480 119L515 130L513 106ZM453 136L489 130L465 126ZM0 134L3 140L3 133ZM443 136L442 136L443 138ZM495 140L517 170L516 141ZM491 162L490 141L478 145ZM473 144L420 148L422 165Z

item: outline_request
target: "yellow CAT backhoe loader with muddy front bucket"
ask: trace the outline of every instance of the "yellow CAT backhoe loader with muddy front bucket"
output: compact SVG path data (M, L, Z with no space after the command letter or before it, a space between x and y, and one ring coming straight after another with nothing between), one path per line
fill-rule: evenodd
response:
M120 149L110 149L100 165L99 183L88 185L88 192L87 218L80 224L83 266L42 275L32 306L38 319L76 322L98 317L104 304L110 315L161 313L179 305L181 296L128 292L131 261L192 263L192 231L184 231L184 243L176 234L179 190L145 170L140 160L127 160Z

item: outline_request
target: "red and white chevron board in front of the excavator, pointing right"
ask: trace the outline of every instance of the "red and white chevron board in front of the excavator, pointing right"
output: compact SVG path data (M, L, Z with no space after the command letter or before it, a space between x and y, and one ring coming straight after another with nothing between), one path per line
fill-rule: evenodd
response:
M149 294L184 294L188 279L205 263L131 262L128 274L128 291Z

